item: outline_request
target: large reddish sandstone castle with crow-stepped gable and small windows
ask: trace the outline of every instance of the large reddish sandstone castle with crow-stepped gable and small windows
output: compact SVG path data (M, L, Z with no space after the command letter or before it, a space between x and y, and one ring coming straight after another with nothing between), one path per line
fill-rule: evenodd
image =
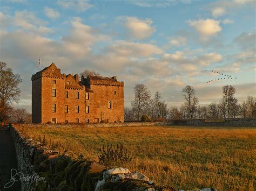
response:
M52 63L32 75L32 123L124 122L124 82L60 73Z

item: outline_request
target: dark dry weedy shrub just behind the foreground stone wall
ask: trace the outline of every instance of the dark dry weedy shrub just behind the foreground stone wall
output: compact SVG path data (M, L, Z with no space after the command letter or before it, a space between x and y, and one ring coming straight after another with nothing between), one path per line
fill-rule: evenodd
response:
M99 148L100 154L98 154L99 164L105 166L119 166L130 163L134 158L127 152L127 148L123 144L116 147L111 145L102 146Z

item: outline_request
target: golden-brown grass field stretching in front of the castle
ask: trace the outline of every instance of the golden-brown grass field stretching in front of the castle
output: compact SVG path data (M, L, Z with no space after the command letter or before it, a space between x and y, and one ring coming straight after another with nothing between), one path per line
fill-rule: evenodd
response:
M46 146L53 145L60 152L68 148L73 157L82 153L96 161L103 144L122 143L134 156L131 164L122 167L176 189L255 190L255 128L18 126L18 129L36 140L45 137Z

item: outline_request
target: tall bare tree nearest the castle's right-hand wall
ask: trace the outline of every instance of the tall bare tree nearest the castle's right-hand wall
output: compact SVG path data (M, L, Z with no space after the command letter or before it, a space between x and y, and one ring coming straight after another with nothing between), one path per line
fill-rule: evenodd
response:
M134 87L134 100L132 101L132 108L137 112L137 120L140 121L142 112L150 105L150 90L144 84L136 84Z

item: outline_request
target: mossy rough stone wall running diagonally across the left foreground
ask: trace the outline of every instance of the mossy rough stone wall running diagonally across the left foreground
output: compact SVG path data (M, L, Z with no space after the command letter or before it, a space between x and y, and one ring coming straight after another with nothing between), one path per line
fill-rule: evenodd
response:
M95 161L50 151L40 142L25 137L14 126L18 172L23 174L22 190L174 190L158 186L147 176L126 168L106 169Z

